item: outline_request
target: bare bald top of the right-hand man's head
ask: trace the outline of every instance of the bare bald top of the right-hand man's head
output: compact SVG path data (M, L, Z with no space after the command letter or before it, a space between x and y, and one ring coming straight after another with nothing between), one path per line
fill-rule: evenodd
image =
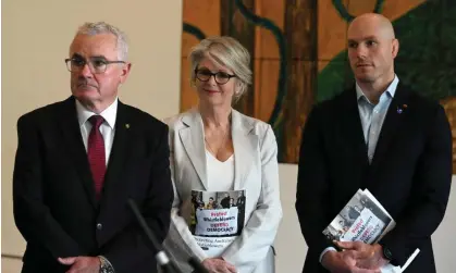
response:
M360 33L370 32L385 39L394 39L394 28L390 20L378 13L366 13L354 18L348 26L348 38L350 35L359 35Z

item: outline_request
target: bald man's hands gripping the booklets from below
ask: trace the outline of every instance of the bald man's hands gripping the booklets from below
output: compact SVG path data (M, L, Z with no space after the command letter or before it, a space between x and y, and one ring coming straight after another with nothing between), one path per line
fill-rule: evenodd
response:
M380 273L380 269L362 269L357 265L359 252L330 250L324 253L321 264L332 273Z

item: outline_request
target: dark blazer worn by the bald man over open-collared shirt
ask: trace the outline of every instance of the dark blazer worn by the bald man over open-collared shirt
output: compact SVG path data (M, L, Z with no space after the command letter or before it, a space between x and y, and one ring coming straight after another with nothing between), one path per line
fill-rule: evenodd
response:
M326 272L319 263L330 246L322 231L358 188L368 188L397 223L381 240L393 264L420 248L407 272L435 272L431 234L444 216L451 179L452 134L439 103L399 84L371 164L355 88L315 107L303 133L296 194L309 247L303 272Z

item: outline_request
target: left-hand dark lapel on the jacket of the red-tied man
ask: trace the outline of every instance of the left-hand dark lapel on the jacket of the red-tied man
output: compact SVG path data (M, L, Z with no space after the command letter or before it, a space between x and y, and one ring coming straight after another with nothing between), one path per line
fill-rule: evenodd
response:
M74 166L77 170L81 181L86 190L89 202L97 208L97 199L95 196L95 186L90 173L90 166L87 159L87 153L84 147L83 137L81 135L79 122L77 120L76 104L74 97L70 97L62 104L62 112L59 115L59 126L62 131L63 141L67 147L71 159L74 161Z

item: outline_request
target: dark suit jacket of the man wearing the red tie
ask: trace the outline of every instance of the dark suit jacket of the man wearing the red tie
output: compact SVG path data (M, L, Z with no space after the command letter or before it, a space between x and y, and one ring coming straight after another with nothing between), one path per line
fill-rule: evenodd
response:
M119 101L99 201L73 97L21 116L17 135L13 199L15 223L27 241L23 272L65 272L59 257L98 255L116 273L156 272L127 199L163 240L173 200L165 124Z

